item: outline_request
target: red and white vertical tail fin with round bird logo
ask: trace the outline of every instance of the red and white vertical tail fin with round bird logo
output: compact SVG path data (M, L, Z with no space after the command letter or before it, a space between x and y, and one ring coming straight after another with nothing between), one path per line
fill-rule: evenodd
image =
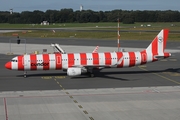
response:
M162 29L146 48L146 52L151 52L153 55L163 55L164 49L166 48L168 33L168 29Z

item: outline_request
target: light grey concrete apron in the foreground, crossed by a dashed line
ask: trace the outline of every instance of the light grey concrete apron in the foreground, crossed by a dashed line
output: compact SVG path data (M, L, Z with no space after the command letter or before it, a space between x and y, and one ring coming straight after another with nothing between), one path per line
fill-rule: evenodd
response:
M180 118L180 86L2 92L0 101L1 120Z

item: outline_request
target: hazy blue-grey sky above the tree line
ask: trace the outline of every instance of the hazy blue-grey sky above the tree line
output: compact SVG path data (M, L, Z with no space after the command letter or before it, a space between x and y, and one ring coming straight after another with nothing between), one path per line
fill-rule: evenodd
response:
M177 10L180 0L0 0L0 11L46 11L72 8L93 11L122 10Z

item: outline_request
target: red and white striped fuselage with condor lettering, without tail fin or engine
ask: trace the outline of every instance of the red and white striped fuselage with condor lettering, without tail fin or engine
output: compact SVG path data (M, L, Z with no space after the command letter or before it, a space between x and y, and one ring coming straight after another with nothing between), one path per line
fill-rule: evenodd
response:
M105 53L68 53L68 54L30 54L17 56L9 62L11 70L61 70L75 66L90 66L105 68L132 67L148 62L154 62L154 58L146 51L142 52L105 52ZM170 54L164 53L164 58ZM122 61L114 66L121 58Z

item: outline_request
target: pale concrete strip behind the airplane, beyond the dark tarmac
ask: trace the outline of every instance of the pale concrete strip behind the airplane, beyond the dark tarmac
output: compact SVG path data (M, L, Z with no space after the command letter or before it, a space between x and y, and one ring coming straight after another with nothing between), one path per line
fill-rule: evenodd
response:
M96 46L74 46L74 45L60 45L60 47L66 52L79 53L79 52L92 52ZM47 53L53 53L55 50L51 45L44 44L16 44L16 43L1 43L0 44L0 53L2 54L22 54L22 53L33 53L38 51L43 53L43 49L47 49ZM141 51L145 48L128 48L123 47L125 51ZM117 51L116 47L101 47L99 46L98 52L113 52ZM171 53L180 53L179 49L166 49L167 52Z

